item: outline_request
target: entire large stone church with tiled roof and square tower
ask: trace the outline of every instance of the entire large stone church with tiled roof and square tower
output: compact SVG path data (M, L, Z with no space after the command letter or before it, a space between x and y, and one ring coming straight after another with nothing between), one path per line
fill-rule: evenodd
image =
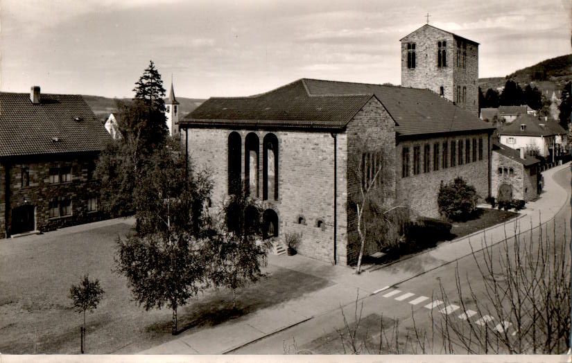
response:
M473 105L477 44L426 25L401 50L411 87L301 79L257 96L209 98L183 118L188 154L212 172L213 205L244 181L267 235L303 233L300 253L345 265L358 255L356 173L372 180L381 157L390 170L374 182L385 207L437 217L440 184L456 177L489 196L494 129Z

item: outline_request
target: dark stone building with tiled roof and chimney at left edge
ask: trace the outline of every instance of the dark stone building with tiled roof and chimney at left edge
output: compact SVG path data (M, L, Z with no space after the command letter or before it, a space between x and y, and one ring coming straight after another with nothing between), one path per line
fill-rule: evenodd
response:
M0 92L1 235L101 219L93 173L110 139L81 96Z

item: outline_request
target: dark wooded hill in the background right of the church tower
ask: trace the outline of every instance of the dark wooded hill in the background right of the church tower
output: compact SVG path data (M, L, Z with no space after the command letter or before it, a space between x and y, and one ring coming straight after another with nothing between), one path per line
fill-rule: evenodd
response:
M551 97L553 91L560 91L566 82L572 80L572 54L544 60L530 67L519 69L506 77L479 78L478 85L483 92L503 87L507 80L514 80L521 87L538 87L542 94Z

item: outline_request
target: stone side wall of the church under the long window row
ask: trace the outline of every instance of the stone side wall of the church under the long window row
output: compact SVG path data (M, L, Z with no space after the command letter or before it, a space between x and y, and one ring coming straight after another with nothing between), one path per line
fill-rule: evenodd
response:
M478 139L483 139L483 159L478 160ZM459 166L451 166L451 141L471 139L471 162ZM477 161L472 161L472 139L477 139ZM442 153L443 144L449 145L448 168L443 168ZM433 169L433 144L439 143L439 170ZM424 172L424 145L429 145L429 171ZM458 144L458 143L457 143ZM465 143L464 143L465 144ZM419 174L413 174L413 148L419 146ZM401 177L401 157L403 148L409 148L409 177ZM414 215L431 218L439 217L437 195L440 184L447 184L456 177L462 177L467 184L476 188L476 193L483 200L489 196L489 143L487 134L467 134L449 137L437 137L432 139L399 141L396 149L396 177L397 177L397 202L410 206ZM463 153L464 155L464 153ZM458 145L456 159L458 158Z

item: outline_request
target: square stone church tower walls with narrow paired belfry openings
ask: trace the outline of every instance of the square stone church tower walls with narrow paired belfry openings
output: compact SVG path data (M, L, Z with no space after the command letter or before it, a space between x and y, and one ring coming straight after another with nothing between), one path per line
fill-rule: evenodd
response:
M422 26L401 39L401 85L430 89L478 116L478 45Z

